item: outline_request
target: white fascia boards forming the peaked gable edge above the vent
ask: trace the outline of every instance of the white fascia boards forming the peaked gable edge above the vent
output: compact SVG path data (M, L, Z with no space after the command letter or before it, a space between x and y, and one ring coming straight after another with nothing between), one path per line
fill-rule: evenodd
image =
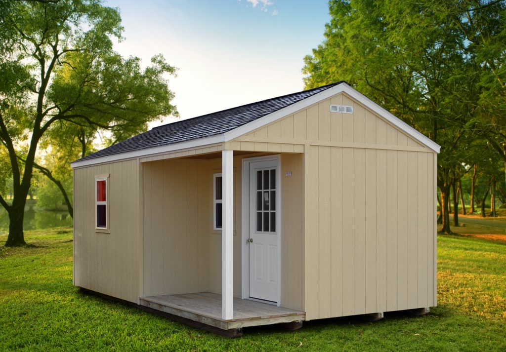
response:
M415 128L411 127L404 121L402 121L400 118L396 117L386 109L382 108L378 104L374 103L372 100L358 92L357 90L353 89L351 86L349 86L347 83L341 83L338 85L334 85L333 87L330 87L329 89L324 90L323 92L320 92L318 94L315 94L311 97L308 97L306 99L303 99L297 103L294 103L292 105L289 105L281 110L275 111L269 115L265 115L259 119L256 119L254 121L251 121L249 123L246 123L242 126L239 126L237 128L234 128L224 134L225 142L230 142L237 137L246 135L260 127L263 127L269 123L272 123L282 117L291 115L299 110L302 110L304 108L307 108L310 105L316 104L320 101L323 101L325 99L328 99L336 94L339 93L346 93L353 99L355 99L360 104L364 105L371 111L375 112L377 115L383 117L385 120L402 130L404 133L406 133L408 136L412 137L416 141L420 142L421 144L427 146L429 149L435 151L436 153L439 153L440 146L432 141L430 138L426 137L424 134L420 133Z

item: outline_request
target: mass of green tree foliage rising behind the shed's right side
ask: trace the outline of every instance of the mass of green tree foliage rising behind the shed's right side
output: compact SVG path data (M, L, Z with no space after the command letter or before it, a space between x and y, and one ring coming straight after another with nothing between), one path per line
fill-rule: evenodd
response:
M504 154L506 3L331 0L329 13L325 40L305 58L306 87L347 80L441 145L449 232L449 187L476 163L484 141Z

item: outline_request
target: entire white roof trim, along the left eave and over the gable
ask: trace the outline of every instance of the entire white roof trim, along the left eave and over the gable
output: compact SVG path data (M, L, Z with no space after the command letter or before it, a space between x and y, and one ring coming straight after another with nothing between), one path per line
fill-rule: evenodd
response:
M173 152L181 149L188 149L188 148L198 148L202 146L206 146L209 144L217 144L217 143L223 143L223 142L230 142L234 139L236 139L239 136L246 135L255 129L258 129L262 126L265 126L269 123L272 123L282 117L291 115L299 110L302 110L310 105L316 104L322 100L328 99L336 94L339 93L346 93L351 98L355 99L357 102L361 103L368 109L372 110L377 115L381 116L400 130L402 130L405 134L415 139L417 142L427 146L431 150L435 151L436 153L439 153L440 146L426 137L424 134L420 133L404 121L402 121L400 118L394 116L392 113L387 111L386 109L382 108L378 104L374 103L372 100L358 92L357 90L353 89L351 86L349 86L347 83L340 83L338 85L334 85L320 93L317 93L311 97L308 97L306 99L303 99L297 103L288 105L287 107L280 109L278 111L275 111L273 113L270 113L268 115L265 115L261 118L258 118L254 121L251 121L249 123L246 123L242 126L239 126L237 128L234 128L224 134L215 135L215 136L209 136L209 137L203 137L198 138L194 140L184 141L184 142L178 142L173 144L167 144L163 146L158 147L152 147L152 148L146 148L146 149L139 149L134 150L131 152L124 152L124 153L118 153L113 155L107 155L102 156L98 158L93 159L87 159L87 160L77 160L72 162L70 165L72 168L81 167L81 166L89 166L89 165L95 165L95 164L101 164L104 162L113 162L123 159L131 159L131 158L137 158L137 157L145 157L153 154L158 153L165 153L165 152Z

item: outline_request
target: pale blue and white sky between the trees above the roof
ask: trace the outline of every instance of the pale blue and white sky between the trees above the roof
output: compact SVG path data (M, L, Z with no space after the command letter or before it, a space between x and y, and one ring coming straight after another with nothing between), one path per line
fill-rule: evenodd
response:
M106 0L124 27L115 50L163 54L180 119L304 89L304 56L324 39L327 0ZM150 127L175 121L165 118Z

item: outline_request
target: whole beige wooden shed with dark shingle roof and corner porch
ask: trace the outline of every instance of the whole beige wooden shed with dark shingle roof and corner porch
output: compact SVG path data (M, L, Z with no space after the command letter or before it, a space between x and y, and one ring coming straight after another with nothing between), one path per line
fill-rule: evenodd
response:
M439 146L346 82L72 163L74 285L242 327L436 305Z

